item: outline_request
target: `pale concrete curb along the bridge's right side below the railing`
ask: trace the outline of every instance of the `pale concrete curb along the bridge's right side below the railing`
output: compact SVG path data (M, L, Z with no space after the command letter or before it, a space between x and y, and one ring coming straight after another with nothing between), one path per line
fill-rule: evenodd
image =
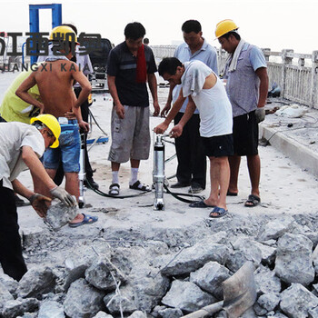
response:
M289 138L286 134L277 133L277 130L269 128L263 123L259 124L259 136L267 141L271 139L269 144L273 145L275 149L287 155L304 170L318 176L318 154Z

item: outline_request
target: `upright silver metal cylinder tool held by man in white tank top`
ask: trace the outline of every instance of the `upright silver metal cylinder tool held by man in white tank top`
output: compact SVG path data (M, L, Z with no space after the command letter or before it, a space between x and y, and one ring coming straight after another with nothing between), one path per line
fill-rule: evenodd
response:
M154 142L154 210L164 210L164 134L156 134Z

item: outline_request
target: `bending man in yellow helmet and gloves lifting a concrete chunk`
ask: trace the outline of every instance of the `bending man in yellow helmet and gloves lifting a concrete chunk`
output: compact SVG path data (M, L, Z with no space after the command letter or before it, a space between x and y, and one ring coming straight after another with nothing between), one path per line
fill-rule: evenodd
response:
M51 114L41 114L31 122L32 125L0 124L0 263L4 272L17 281L26 273L26 266L18 233L14 191L27 198L40 217L45 217L46 203L51 201L21 184L16 179L18 174L29 168L53 197L69 206L75 205L72 195L53 182L39 160L46 148L58 146L60 125Z

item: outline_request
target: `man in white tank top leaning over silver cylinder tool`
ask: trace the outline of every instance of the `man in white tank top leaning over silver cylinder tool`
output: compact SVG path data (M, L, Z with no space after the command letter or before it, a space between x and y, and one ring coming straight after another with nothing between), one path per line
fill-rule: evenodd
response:
M203 201L196 201L190 207L213 210L209 217L216 218L227 213L226 192L230 180L228 156L233 154L232 106L217 75L201 61L182 64L175 57L166 57L159 65L159 75L171 84L181 84L182 88L173 108L154 132L163 134L179 111L186 97L189 97L185 113L180 122L171 130L177 138L183 133L184 124L194 114L195 106L200 114L200 136L204 153L210 159L211 192Z

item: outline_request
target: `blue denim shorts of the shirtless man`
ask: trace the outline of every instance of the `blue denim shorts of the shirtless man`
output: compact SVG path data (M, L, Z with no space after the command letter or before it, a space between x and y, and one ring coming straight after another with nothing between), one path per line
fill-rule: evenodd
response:
M43 155L45 169L57 170L62 160L65 173L78 173L81 138L76 119L69 119L68 124L61 124L61 134L57 148L47 148Z

